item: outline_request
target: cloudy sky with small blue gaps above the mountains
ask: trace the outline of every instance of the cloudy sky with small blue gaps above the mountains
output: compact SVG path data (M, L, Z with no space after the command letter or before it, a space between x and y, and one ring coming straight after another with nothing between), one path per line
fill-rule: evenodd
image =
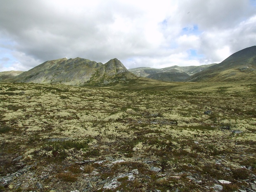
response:
M0 0L0 71L64 57L198 66L254 45L256 0Z

